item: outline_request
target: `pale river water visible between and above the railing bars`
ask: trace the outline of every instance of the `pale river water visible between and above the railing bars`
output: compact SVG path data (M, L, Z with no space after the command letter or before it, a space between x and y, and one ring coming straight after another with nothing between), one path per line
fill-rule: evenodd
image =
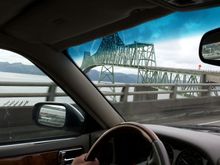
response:
M19 73L9 73L9 72L0 72L0 82L52 82L47 76L43 75L31 75L31 74L19 74ZM98 83L94 81L94 83ZM160 90L160 89L159 89ZM8 87L0 86L0 93L47 93L48 87ZM109 88L102 88L101 91L112 92ZM133 92L134 89L130 88L129 92ZM62 92L60 88L57 89L57 92ZM115 89L115 92L121 92L121 89ZM182 97L182 96L178 96ZM112 101L111 97L107 97ZM115 97L116 101L119 101L119 96ZM114 99L115 99L114 98ZM169 94L159 94L157 99L168 99ZM0 106L18 106L18 105L34 105L37 102L45 101L45 97L30 98L30 97L10 97L0 98ZM69 97L56 97L55 101L73 103L72 99ZM133 96L128 96L128 101L133 101Z

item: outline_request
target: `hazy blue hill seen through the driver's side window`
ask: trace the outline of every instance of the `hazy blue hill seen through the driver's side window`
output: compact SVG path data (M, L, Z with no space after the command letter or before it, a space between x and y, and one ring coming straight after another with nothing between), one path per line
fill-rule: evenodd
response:
M44 75L44 73L34 65L24 65L22 63L0 62L0 72L24 73Z

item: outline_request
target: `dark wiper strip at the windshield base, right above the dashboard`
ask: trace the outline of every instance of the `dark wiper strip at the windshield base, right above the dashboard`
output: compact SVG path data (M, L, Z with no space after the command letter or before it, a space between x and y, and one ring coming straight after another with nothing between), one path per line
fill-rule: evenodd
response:
M217 125L193 125L193 124L172 125L172 124L169 124L167 126L177 127L177 128L186 128L186 129L198 130L198 131L220 133L220 126L217 126Z

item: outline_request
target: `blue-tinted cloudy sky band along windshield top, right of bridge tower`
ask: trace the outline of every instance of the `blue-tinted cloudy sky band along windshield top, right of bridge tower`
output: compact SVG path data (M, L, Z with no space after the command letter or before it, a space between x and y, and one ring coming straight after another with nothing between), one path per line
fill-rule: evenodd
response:
M191 11L175 12L168 16L143 23L119 32L125 43L158 42L205 32L220 27L220 7Z

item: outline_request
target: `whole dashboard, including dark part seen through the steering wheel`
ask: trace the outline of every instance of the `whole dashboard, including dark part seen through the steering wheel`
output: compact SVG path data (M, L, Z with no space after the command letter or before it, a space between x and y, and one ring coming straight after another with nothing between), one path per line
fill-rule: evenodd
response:
M220 135L170 126L144 126L163 142L171 165L220 165ZM129 132L118 134L104 145L98 159L106 165L148 164L151 144L136 137Z

